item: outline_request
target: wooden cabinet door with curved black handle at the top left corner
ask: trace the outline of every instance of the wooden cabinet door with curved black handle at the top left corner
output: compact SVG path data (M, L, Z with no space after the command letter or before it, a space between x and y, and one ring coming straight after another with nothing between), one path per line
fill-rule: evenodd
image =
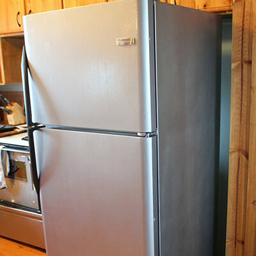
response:
M0 34L23 30L22 15L25 14L23 0L0 1Z

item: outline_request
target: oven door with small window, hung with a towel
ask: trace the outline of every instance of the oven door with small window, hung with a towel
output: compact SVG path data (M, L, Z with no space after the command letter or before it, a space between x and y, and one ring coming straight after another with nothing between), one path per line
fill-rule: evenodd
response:
M29 152L8 147L2 148L2 152L7 154L1 159L7 188L0 189L0 202L38 211L38 196L31 177Z

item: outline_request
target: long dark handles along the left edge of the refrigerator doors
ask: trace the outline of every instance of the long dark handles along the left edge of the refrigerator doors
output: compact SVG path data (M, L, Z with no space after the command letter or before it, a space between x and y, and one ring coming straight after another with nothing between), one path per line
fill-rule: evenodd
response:
M28 70L29 70L29 67L28 67L26 49L25 47L23 47L22 59L21 59L21 75L22 75L22 84L23 84L23 92L24 92L26 120L27 120L27 126L28 126L28 143L29 143L29 152L30 152L31 175L32 175L33 184L39 199L39 177L38 177L38 172L36 170L35 144L34 144L34 136L33 136L33 131L35 131L33 125L35 124L33 124L32 122L32 115L31 115Z

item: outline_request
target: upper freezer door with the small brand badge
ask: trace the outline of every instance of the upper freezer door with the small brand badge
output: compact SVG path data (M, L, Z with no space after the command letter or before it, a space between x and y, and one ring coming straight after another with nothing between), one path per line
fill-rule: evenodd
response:
M123 0L25 16L33 122L156 131L153 14Z

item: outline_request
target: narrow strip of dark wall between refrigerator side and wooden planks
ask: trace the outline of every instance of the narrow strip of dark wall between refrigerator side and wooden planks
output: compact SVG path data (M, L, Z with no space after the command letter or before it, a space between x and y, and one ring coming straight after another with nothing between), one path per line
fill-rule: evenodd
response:
M216 253L225 255L228 195L228 157L230 132L230 93L232 58L232 17L223 17L221 53L220 170L218 173L218 211Z

